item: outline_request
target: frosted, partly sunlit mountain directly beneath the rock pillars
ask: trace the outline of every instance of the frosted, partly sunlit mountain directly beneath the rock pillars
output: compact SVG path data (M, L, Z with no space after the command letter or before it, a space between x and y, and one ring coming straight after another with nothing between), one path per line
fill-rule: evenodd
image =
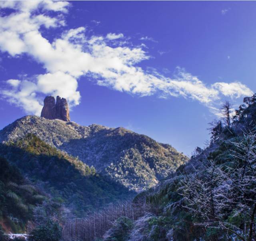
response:
M15 142L28 134L136 192L155 186L188 160L172 146L122 127L81 126L36 116L22 117L0 130L0 142Z

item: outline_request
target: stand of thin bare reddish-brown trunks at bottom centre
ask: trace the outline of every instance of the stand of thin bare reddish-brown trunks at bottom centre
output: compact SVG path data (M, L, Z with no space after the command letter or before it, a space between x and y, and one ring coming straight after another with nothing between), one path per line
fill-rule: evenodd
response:
M132 222L148 210L149 205L142 202L142 199L137 200L136 203L131 201L112 203L102 210L86 215L83 219L67 219L63 225L62 240L99 241L103 236L107 240L124 240L132 227Z

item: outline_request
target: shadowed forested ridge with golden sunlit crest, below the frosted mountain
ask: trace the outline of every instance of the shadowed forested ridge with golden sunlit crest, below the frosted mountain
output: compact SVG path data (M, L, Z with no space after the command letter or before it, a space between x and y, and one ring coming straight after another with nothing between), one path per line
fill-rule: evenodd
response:
M65 207L70 216L83 217L95 208L134 196L121 184L34 134L0 144L0 156L15 165L49 200Z

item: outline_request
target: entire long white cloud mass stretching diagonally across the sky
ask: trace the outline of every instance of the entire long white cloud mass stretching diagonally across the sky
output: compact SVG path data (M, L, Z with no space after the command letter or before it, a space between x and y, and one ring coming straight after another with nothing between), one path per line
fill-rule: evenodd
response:
M44 74L25 75L20 80L9 79L9 88L0 92L27 113L40 115L43 95L60 95L71 106L78 105L77 79L81 76L95 79L98 85L134 95L157 94L163 98L174 96L197 100L213 111L214 102L220 101L222 96L238 98L252 94L240 82L206 85L181 68L177 68L173 78L165 77L154 69L145 71L137 64L150 56L142 50L142 45L131 47L119 41L123 34L109 33L106 38L88 37L86 28L80 27L64 31L61 37L50 42L42 36L40 27L63 26L65 23L59 12L68 12L68 2L0 2L0 7L7 6L18 11L0 17L0 50L15 57L27 53L46 69ZM36 8L54 11L56 16L36 15ZM108 45L108 40L119 41L118 47ZM149 37L141 40L155 41Z

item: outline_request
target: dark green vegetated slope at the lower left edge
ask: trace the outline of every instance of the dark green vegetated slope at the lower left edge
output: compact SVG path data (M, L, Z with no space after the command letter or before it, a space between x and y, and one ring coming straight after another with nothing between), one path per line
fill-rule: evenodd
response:
M26 228L26 222L33 217L33 209L46 199L31 185L16 166L0 157L0 220L13 232Z

